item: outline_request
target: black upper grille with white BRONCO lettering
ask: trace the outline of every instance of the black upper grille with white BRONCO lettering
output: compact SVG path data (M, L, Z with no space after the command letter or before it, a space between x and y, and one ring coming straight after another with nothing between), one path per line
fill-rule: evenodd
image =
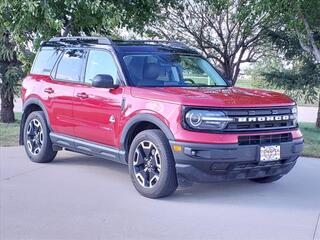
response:
M290 129L296 125L295 117L292 114L292 107L230 109L224 112L228 117L234 119L224 129L227 132Z

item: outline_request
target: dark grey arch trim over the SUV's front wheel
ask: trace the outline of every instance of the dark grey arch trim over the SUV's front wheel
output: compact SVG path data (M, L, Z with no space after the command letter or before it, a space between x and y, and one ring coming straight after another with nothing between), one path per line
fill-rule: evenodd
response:
M128 152L134 137L141 131L147 129L160 129L168 140L174 140L169 127L158 117L147 113L140 113L130 119L123 128L120 137L120 157L128 162Z

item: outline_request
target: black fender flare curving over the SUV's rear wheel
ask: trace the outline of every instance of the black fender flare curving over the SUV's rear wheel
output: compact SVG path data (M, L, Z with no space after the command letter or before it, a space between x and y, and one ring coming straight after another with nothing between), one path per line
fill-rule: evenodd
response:
M24 102L23 107L22 107L22 116L21 116L21 121L20 121L20 134L19 134L19 144L23 145L23 130L24 130L24 125L25 121L28 117L29 111L26 111L31 105L37 105L38 107L41 108L41 110L44 112L44 115L46 117L47 125L50 131L52 131L51 125L50 125L50 120L48 116L48 112L44 106L44 104L37 98L29 98L27 101Z

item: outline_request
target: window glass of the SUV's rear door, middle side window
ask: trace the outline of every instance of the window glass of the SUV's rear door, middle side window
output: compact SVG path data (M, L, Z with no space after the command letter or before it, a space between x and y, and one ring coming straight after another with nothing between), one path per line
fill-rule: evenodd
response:
M71 49L64 52L56 72L56 79L79 82L85 51Z

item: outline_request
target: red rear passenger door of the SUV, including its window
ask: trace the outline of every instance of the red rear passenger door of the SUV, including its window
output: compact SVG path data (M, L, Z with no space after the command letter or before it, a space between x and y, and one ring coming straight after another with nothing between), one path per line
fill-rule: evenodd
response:
M74 90L81 80L86 51L66 49L58 60L52 81L46 83L47 107L50 125L55 133L74 136Z

